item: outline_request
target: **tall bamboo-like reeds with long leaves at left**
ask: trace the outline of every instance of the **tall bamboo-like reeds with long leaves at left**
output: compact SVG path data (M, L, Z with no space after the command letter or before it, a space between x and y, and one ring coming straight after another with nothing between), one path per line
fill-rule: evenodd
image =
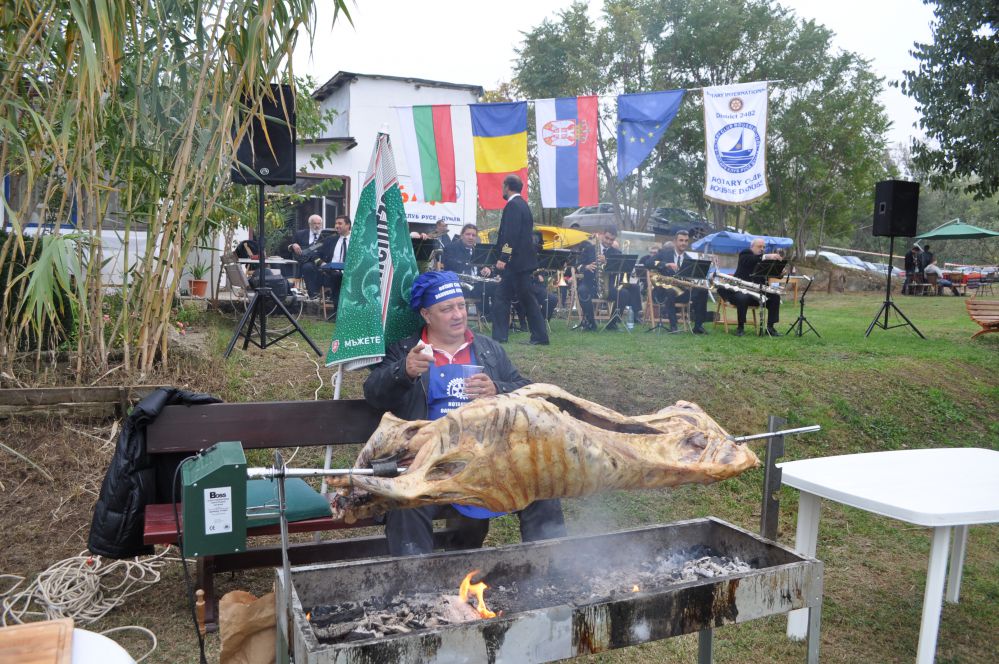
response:
M314 0L4 3L0 172L14 195L4 201L13 232L0 245L0 368L15 361L25 328L61 324L46 305L53 275L72 284L78 377L105 372L112 345L126 369L166 360L187 256L229 187L249 117L271 82L293 80L291 53L315 16ZM79 233L24 241L32 222L58 229L71 218ZM101 244L90 241L109 227L126 246L136 230L146 238L139 260L126 250L134 266L120 284L102 278ZM40 260L51 269L34 269ZM9 278L17 265L28 277ZM103 315L109 288L121 302L114 317Z

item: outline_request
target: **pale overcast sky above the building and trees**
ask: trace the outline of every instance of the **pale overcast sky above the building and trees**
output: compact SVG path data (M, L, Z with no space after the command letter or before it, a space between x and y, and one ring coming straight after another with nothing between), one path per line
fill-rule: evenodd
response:
M353 3L354 0L348 0ZM337 71L412 76L485 88L511 78L510 70L523 32L554 18L570 0L358 0L354 25L329 28L331 12L321 12L310 54L295 53L295 69L322 84ZM921 0L783 0L802 18L815 19L835 34L838 48L871 60L888 81L915 69L913 42L930 40L932 8ZM594 17L600 2L591 2ZM908 143L921 135L911 99L886 86L882 101L893 121L889 139Z

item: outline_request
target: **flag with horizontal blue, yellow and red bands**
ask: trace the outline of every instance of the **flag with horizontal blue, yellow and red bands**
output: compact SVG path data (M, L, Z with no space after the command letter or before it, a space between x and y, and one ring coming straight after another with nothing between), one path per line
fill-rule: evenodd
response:
M502 209L503 178L511 173L523 181L520 195L527 200L527 102L471 104L470 109L479 205Z

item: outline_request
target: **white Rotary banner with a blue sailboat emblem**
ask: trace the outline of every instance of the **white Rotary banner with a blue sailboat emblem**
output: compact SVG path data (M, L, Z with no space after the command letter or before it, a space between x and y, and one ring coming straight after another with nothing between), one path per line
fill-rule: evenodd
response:
M741 205L767 195L767 84L704 88L704 197Z

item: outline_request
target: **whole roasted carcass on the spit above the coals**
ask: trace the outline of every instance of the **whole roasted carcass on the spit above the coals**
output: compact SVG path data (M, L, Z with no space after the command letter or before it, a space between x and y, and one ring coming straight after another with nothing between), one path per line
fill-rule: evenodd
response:
M696 404L627 417L554 385L478 399L435 421L386 414L355 467L391 458L398 477L333 478L335 516L462 503L497 512L613 489L708 484L759 465Z

